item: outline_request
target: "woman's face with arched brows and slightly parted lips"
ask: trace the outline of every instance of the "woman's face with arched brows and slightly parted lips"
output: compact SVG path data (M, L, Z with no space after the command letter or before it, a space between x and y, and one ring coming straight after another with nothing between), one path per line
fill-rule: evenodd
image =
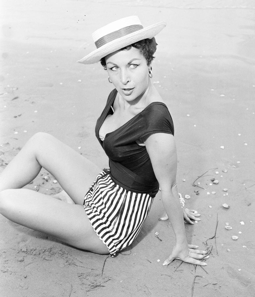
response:
M148 89L149 66L137 48L111 53L105 62L109 78L124 100L139 99Z

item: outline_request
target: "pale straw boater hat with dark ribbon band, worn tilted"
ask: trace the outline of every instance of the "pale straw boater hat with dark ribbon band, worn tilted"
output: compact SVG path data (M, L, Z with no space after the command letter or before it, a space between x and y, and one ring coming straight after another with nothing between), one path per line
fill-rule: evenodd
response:
M159 22L143 28L136 15L116 20L92 34L97 49L77 62L82 64L96 63L101 58L127 45L154 37L165 25L165 22Z

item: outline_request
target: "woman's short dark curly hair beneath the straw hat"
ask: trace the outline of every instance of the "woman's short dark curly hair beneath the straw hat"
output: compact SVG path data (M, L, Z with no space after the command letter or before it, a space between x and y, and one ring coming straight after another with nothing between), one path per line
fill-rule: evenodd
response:
M152 60L155 58L153 55L157 48L157 43L155 38L146 38L137 42L132 43L131 45L127 45L124 48L121 48L120 50L130 50L131 48L137 48L140 50L140 53L144 56L144 58L147 61L147 65L149 66L152 62ZM101 65L106 70L106 62L105 57L100 60Z

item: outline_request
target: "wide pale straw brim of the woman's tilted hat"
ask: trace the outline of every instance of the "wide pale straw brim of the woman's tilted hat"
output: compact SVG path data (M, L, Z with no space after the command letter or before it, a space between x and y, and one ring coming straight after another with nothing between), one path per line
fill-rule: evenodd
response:
M81 60L77 61L82 64L93 64L103 57L109 55L110 53L115 52L116 50L120 50L127 45L130 45L134 42L152 38L156 36L162 29L166 26L165 22L159 22L154 25L148 26L141 30L135 31L133 33L127 34L123 37L117 38L111 42L108 42L105 45L102 45L100 48L93 50L93 52L89 53L87 56L83 57Z

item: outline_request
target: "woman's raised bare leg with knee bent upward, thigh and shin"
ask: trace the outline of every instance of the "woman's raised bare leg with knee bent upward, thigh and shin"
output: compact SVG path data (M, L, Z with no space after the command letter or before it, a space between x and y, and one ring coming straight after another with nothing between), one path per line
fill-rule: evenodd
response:
M101 171L95 164L55 137L39 132L24 145L0 175L0 191L32 181L41 168L48 170L76 204Z

